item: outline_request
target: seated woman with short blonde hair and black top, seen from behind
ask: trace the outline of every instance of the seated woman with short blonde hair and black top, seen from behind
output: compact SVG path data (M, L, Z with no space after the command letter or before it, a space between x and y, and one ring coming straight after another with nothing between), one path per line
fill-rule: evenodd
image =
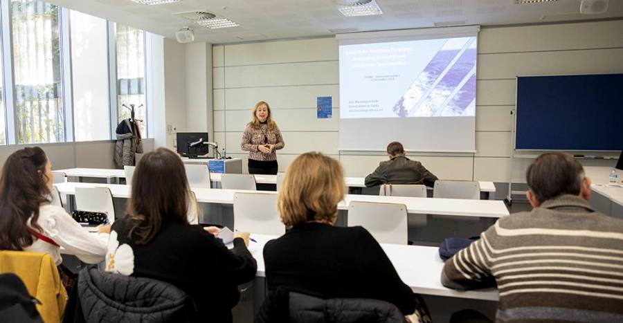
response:
M282 222L292 228L264 247L269 290L379 299L394 304L404 315L413 313L411 289L370 232L359 226L334 226L345 190L337 160L307 153L291 163L278 209Z

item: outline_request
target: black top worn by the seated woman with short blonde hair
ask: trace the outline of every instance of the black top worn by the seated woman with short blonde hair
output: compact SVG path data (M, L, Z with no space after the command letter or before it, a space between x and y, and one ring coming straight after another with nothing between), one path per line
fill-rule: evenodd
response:
M415 297L372 234L361 227L296 225L264 246L269 290L283 288L321 298L390 302L408 315Z

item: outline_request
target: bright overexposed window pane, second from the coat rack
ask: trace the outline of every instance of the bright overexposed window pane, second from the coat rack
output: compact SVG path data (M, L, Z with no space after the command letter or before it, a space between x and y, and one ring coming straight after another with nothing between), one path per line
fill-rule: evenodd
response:
M108 26L71 10L71 84L75 141L110 139Z

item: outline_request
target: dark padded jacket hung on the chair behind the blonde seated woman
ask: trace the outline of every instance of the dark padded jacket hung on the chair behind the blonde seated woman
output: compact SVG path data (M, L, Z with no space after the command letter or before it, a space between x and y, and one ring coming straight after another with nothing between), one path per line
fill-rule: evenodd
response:
M255 315L255 323L265 322L403 323L405 318L394 304L377 299L322 299L273 290Z

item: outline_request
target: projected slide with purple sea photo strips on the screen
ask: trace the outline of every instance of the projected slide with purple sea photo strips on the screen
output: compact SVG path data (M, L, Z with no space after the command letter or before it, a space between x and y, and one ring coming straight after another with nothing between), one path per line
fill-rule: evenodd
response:
M475 116L476 37L340 46L340 118Z

